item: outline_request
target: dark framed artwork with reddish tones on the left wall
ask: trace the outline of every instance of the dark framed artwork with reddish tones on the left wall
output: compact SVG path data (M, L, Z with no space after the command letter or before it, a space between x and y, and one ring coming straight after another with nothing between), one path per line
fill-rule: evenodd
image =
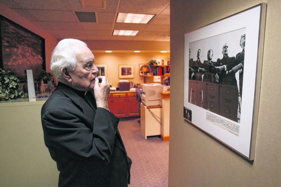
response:
M45 40L15 22L0 15L0 67L25 80L25 70L39 78L45 66Z

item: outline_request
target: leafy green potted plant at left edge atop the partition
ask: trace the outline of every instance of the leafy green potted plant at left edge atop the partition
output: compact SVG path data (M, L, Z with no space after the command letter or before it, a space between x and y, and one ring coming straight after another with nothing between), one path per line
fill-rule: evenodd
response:
M12 74L11 71L0 68L0 100L10 101L16 98L26 98L27 96L27 93L24 93L20 86L18 76Z

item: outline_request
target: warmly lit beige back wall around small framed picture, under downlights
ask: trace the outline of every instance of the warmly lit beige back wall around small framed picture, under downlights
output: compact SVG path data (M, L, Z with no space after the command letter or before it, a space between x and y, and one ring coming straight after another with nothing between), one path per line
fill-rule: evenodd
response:
M122 79L128 80L135 84L143 84L143 77L140 76L139 64L148 64L150 60L157 58L164 61L170 61L170 53L95 53L96 64L107 64L107 77L109 84L118 87L119 82L119 65L134 65L134 78ZM152 83L153 78L147 77L146 83Z

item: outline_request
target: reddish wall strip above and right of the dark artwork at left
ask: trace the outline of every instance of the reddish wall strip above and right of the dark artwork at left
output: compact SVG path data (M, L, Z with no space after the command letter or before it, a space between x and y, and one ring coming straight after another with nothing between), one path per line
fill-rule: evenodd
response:
M58 43L57 39L1 3L0 14L45 39L46 70L49 72L51 54L54 47Z

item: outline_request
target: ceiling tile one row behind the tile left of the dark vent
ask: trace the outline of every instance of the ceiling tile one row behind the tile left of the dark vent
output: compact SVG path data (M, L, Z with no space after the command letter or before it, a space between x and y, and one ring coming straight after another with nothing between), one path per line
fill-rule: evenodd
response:
M77 22L48 22L42 21L42 24L46 25L49 30L80 30L80 26ZM41 27L42 28L42 27Z

